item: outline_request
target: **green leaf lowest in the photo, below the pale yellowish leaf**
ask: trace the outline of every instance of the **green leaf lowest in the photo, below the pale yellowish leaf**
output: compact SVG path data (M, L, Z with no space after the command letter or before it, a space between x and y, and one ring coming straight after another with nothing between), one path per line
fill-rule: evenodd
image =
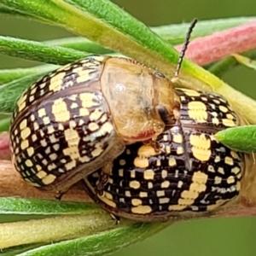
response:
M61 241L59 243L38 247L26 253L20 253L17 256L105 255L106 253L111 253L131 245L131 243L143 241L148 236L152 236L156 232L166 228L169 224L132 224L108 232L102 232L94 236L87 236L71 241Z

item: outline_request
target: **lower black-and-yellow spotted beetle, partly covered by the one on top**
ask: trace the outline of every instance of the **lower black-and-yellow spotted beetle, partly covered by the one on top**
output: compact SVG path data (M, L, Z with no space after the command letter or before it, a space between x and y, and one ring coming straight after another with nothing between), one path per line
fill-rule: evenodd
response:
M211 214L239 195L244 155L214 138L240 125L222 96L176 90L180 119L157 139L160 151L136 143L114 160L102 195L95 193L100 170L84 179L89 195L108 212L140 221Z

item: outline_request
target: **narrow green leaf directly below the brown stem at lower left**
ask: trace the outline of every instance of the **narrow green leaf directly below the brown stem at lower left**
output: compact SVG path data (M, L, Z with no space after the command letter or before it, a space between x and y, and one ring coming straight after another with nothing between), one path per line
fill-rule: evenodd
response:
M0 197L0 213L4 214L77 214L84 212L101 212L95 203L50 201Z

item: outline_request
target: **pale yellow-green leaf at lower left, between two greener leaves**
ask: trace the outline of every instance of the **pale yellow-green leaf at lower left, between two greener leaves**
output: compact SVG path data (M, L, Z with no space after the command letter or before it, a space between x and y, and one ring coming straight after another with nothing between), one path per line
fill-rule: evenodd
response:
M122 225L129 223L124 220ZM115 221L104 211L4 223L0 224L0 248L90 236L115 227Z

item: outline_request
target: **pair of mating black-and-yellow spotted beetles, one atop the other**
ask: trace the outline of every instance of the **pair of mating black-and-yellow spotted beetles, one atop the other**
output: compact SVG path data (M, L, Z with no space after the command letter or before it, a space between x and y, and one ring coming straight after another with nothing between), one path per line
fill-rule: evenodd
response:
M15 108L15 169L40 189L84 179L108 212L202 215L239 195L244 158L214 133L240 125L222 96L173 89L137 61L90 56L32 84Z

